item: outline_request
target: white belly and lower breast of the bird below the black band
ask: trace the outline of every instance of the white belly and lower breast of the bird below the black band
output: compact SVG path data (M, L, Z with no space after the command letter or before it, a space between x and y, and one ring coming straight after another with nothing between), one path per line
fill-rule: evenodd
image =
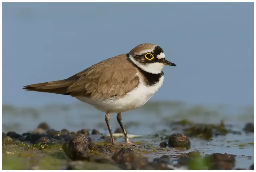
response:
M164 75L160 78L159 82L153 86L146 86L142 81L140 81L138 87L127 93L125 97L118 99L91 100L90 98L82 96L77 96L76 98L103 112L125 112L143 106L162 86L163 81Z

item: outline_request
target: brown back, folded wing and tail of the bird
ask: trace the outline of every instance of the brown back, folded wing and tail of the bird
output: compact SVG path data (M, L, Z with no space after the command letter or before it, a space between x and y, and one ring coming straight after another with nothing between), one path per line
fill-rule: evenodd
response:
M93 100L122 97L139 85L137 69L126 54L101 61L65 80L27 85L23 89Z

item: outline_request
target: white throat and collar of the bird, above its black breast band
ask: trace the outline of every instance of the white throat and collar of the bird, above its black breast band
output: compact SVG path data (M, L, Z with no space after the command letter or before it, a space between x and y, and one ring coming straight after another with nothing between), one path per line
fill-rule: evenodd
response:
M135 65L137 65L139 68L149 73L153 73L153 74L161 73L164 67L163 63L158 63L158 62L141 64L138 61L136 61L131 54L129 54L129 58Z

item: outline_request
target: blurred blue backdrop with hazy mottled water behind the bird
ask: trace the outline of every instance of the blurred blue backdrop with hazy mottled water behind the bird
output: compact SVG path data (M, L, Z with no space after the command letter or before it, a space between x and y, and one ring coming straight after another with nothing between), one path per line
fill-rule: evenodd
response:
M104 113L65 95L22 86L60 80L154 43L177 67L143 107L123 113L129 133L168 122L253 121L253 3L3 3L3 131L40 122L108 133ZM145 120L147 119L147 120ZM118 128L111 115L112 128ZM253 137L253 136L252 136Z

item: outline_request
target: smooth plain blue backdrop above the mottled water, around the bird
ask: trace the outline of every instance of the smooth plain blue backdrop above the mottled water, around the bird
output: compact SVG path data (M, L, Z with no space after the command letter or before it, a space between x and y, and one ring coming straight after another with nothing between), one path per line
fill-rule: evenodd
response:
M253 3L3 3L3 104L77 102L22 86L65 79L154 43L165 67L151 100L253 104Z

